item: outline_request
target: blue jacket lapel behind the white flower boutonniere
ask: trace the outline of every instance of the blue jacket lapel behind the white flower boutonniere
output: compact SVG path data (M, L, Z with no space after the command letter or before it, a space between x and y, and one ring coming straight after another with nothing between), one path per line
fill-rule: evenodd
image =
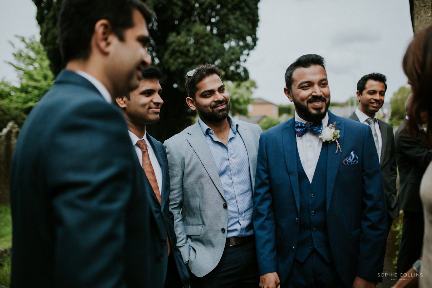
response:
M345 135L343 131L343 123L338 119L333 113L328 111L328 125L336 122L336 130L340 130L340 137L337 141L340 144L340 148L346 154L347 151L343 150L343 136ZM324 143L323 143L324 144ZM340 157L342 155L341 152L337 151L337 143L336 141L331 142L327 146L327 187L326 187L326 203L327 203L327 212L330 208L331 196L333 194L334 184L336 182L337 171L339 170ZM348 151L349 153L349 151ZM345 155L344 154L344 155Z

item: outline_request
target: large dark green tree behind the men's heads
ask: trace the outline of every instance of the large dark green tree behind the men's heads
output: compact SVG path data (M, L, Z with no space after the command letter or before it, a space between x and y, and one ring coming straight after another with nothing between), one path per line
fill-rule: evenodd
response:
M62 67L56 35L61 0L33 0L41 26L41 43L57 74ZM244 82L249 79L243 66L257 41L259 0L145 0L156 14L150 25L148 51L153 63L168 76L163 87L164 104L158 123L149 133L164 141L192 122L195 112L186 105L184 88L187 71L213 63L222 70L222 79ZM242 105L241 105L242 106Z

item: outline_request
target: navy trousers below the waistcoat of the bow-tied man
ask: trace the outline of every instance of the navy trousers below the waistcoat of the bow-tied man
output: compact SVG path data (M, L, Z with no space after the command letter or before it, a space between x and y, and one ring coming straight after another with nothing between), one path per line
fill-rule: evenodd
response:
M317 250L312 250L302 263L294 259L288 278L280 288L346 288L334 262L327 263Z

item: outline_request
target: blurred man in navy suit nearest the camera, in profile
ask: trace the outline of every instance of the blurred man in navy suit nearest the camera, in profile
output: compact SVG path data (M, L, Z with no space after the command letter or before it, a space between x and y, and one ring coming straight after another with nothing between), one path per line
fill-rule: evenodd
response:
M152 187L112 104L151 62L151 21L140 0L63 1L66 69L29 114L13 155L11 287L162 287L167 245Z

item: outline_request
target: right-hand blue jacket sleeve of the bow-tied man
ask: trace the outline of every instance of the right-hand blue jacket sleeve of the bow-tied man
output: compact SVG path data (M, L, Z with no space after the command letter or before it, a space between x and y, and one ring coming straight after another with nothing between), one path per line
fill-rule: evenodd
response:
M387 205L381 168L370 127L363 145L363 214L357 276L381 282L387 244Z

